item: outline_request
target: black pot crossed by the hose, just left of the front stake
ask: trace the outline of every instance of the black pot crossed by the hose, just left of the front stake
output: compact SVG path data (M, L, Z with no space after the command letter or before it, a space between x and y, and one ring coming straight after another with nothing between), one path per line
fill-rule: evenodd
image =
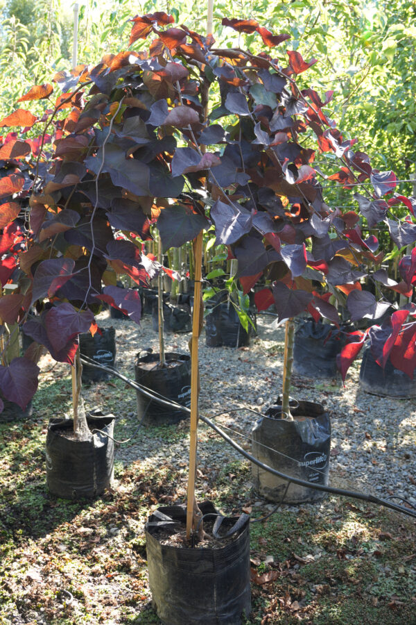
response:
M182 406L191 406L191 357L183 353L165 353L166 367L159 369L159 354L137 355L135 380ZM186 412L163 406L137 391L137 414L146 425L173 424L186 419Z

